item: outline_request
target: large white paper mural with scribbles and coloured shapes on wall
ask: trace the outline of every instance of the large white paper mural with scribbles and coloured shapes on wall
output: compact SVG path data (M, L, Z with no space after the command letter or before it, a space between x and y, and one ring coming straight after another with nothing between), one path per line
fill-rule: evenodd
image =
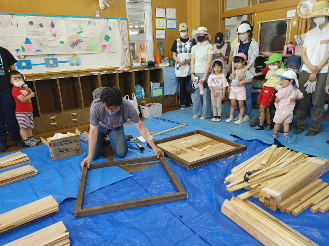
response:
M108 46L107 52L116 52L116 23L108 19L1 15L0 46L19 56L100 53L102 45Z

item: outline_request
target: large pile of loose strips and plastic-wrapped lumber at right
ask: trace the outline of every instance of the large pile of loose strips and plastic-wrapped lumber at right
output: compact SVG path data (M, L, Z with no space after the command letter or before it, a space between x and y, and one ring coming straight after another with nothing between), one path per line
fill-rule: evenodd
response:
M233 168L224 183L230 182L227 185L228 191L250 189L240 194L238 196L240 199L254 196L259 198L262 205L274 211L281 202L284 202L281 204L282 208L281 205L279 207L281 211L298 215L322 195L323 199L329 197L325 195L329 190L326 188L327 183L322 183L320 180L316 181L317 186L315 182L311 185L328 169L327 159L308 157L301 152L272 145ZM245 174L250 171L253 172L246 181ZM306 186L308 184L309 187ZM285 201L286 199L288 200ZM325 207L321 210L324 211Z

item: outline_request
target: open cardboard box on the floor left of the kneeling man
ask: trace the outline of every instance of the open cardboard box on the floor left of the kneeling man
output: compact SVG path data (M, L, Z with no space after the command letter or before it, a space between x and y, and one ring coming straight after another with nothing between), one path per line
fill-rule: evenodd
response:
M75 129L75 136L50 140L50 138L40 138L41 141L49 147L49 153L52 160L58 160L65 157L79 155L82 153L80 143L80 131Z

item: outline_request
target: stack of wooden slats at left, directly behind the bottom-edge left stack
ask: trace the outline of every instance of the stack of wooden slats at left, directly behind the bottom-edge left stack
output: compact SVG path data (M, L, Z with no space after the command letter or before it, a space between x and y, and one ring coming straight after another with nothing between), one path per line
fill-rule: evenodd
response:
M58 203L50 195L0 214L0 234L58 212Z

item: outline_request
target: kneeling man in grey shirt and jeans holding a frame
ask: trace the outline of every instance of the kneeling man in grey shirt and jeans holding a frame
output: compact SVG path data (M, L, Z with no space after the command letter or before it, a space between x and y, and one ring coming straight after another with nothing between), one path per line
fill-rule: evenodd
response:
M107 135L115 155L120 158L127 155L128 145L123 125L128 118L135 124L157 157L164 155L162 150L154 144L134 106L127 99L122 98L119 89L116 87L100 87L92 92L92 96L94 100L90 106L87 157L80 164L82 168L85 164L89 168L91 160L99 157Z

